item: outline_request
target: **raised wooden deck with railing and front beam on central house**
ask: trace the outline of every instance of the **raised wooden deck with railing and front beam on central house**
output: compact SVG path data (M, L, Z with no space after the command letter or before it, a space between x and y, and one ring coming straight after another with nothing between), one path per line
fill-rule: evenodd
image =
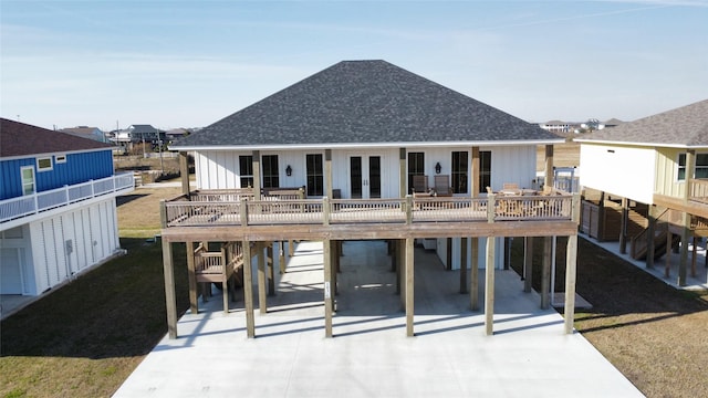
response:
M577 195L566 192L395 199L267 196L261 200L243 192L202 192L163 202L163 235L188 241L202 234L225 234L228 240L235 235L281 240L574 234L577 203Z

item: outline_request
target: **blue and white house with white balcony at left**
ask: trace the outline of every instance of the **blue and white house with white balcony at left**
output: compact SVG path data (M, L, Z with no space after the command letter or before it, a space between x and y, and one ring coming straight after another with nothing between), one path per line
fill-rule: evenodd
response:
M122 252L115 198L134 181L112 149L0 118L0 294L40 295Z

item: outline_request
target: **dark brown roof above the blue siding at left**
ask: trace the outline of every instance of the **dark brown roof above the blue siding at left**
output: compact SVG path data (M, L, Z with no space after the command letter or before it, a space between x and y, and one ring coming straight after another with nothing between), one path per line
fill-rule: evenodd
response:
M0 118L0 157L107 148L94 139Z

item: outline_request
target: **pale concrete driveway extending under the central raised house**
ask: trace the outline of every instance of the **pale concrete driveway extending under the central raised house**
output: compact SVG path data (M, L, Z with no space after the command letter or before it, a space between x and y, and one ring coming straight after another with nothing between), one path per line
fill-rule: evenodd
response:
M383 241L343 244L333 338L324 333L322 243L301 242L277 275L268 313L247 338L243 301L200 303L178 322L116 397L642 396L554 310L523 292L514 271L496 271L494 334L459 293L459 271L415 249L415 337L396 294ZM483 307L485 271L479 271ZM239 291L241 292L241 291Z

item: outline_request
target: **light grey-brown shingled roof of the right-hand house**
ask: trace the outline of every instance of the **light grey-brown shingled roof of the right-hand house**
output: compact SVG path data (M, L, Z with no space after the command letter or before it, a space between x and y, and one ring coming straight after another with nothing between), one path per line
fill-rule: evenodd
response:
M708 100L576 138L577 142L707 147Z

